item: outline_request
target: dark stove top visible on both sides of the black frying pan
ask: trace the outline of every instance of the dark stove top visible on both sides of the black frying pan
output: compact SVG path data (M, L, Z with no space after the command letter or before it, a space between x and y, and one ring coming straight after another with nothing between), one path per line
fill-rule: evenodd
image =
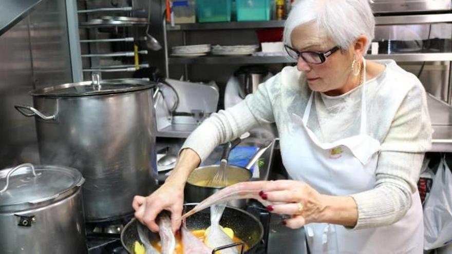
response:
M244 210L253 214L263 226L263 238L257 245L255 254L265 254L268 248L268 236L270 228L270 213L260 203L250 200ZM121 230L131 220L131 217L125 217L121 220L87 223L86 237L89 254L127 254L121 244Z

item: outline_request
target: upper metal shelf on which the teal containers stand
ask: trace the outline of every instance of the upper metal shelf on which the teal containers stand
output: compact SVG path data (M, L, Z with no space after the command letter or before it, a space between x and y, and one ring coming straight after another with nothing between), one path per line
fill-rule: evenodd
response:
M193 23L180 24L172 27L166 25L168 31L190 31L190 30L233 30L233 29L258 29L284 27L286 21L245 21L245 22L218 22L218 23ZM375 25L413 25L434 24L452 22L452 13L424 14L424 15L397 15L376 16Z

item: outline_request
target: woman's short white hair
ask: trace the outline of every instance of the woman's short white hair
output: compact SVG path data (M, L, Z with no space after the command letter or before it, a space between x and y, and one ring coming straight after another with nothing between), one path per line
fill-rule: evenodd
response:
M366 35L367 51L374 37L375 18L368 0L298 0L284 26L284 43L292 46L293 29L308 22L314 22L341 49Z

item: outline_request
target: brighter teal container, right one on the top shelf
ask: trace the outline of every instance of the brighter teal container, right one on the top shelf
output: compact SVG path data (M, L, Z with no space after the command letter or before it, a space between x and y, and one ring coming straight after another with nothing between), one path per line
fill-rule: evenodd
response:
M270 0L235 0L237 21L269 21Z

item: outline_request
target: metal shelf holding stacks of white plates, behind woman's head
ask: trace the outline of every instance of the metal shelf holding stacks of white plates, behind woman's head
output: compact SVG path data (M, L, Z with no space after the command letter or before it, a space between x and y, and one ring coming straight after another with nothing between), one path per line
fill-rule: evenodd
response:
M392 59L396 62L452 61L452 53L411 53L367 55L368 60ZM284 64L296 63L289 56L200 56L170 57L169 64Z

